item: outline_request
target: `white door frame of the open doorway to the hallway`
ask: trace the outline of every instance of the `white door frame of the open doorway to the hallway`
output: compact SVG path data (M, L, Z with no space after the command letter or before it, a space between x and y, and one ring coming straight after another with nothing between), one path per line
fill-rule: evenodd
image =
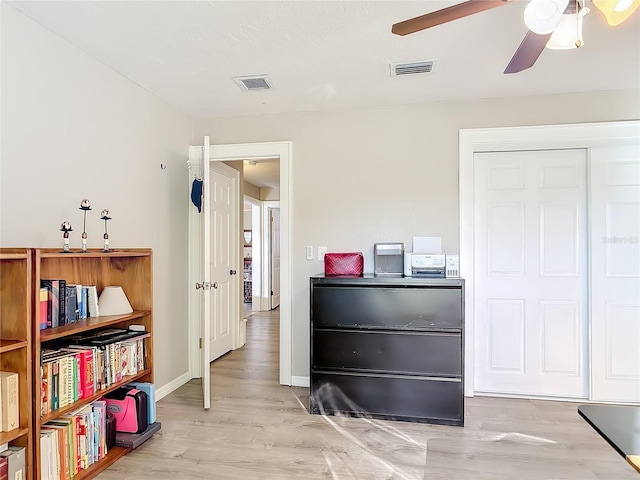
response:
M264 142L264 143L243 143L229 145L211 145L211 161L233 161L251 160L262 158L280 159L280 384L291 385L291 340L292 340L292 320L291 320L291 162L292 156L291 142ZM203 159L206 165L206 159ZM243 205L243 198L238 192L238 204ZM192 232L191 232L192 233ZM264 234L263 234L264 236ZM242 266L242 251L238 254L238 265ZM242 276L238 276L239 282ZM242 296L238 296L238 302ZM241 310L240 310L241 311ZM241 315L238 315L239 317ZM238 319L240 322L241 319ZM189 316L189 330L195 332L200 330L200 319L196 315ZM191 359L191 377L200 378L202 372L200 368L194 368L198 364L200 348L198 340L192 334L189 341L189 358ZM194 361L194 358L196 359Z

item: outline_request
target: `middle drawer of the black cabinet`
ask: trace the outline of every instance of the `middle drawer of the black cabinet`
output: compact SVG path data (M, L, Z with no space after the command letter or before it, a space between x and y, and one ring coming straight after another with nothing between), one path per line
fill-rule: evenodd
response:
M316 369L462 374L460 334L315 330L312 348Z

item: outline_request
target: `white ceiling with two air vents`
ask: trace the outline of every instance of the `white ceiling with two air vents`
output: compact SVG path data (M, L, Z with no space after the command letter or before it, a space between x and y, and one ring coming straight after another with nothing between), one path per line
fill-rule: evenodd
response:
M638 88L640 11L608 27L593 6L585 46L503 70L526 33L513 2L399 37L391 25L456 1L12 1L46 28L193 118ZM391 77L389 64L437 60ZM234 76L267 74L243 92Z

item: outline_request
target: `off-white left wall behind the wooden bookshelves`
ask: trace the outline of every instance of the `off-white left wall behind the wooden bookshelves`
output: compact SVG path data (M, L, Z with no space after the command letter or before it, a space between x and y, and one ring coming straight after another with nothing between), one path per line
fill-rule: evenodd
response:
M186 159L192 121L2 2L0 245L154 251L156 384L188 371ZM160 164L166 165L161 170Z

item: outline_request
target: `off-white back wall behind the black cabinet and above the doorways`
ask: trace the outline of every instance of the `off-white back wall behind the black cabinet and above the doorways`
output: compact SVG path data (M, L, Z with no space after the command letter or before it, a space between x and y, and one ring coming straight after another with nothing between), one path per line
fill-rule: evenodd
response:
M640 79L638 79L640 85ZM291 140L294 376L309 368L305 245L362 251L375 242L442 237L458 252L458 130L640 118L640 91L502 98L196 120L217 144Z

